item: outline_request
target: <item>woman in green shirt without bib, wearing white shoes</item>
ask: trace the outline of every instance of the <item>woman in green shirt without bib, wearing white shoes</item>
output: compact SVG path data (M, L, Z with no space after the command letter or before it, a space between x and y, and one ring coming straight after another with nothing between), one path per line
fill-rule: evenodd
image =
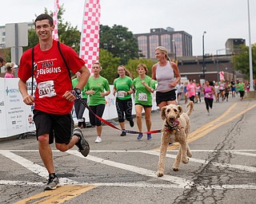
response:
M98 120L94 114L99 117L103 116L105 110L106 100L105 96L110 94L110 84L106 78L100 76L102 67L99 62L95 62L92 69L94 70L94 76L91 76L86 84L86 94L89 95L89 107L92 112L89 112L90 124L95 126L97 131L97 138L95 143L102 142L102 122ZM106 92L104 92L106 90Z

